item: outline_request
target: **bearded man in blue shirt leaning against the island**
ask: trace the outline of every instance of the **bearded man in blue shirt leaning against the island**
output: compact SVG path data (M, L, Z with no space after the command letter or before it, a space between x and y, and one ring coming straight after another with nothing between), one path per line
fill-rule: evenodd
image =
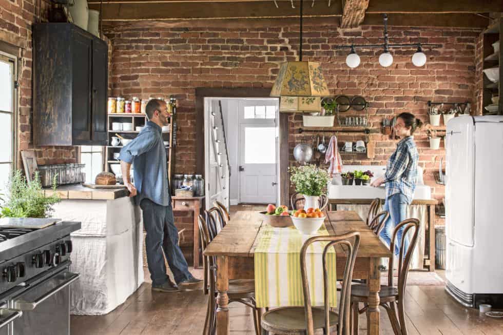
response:
M173 219L166 148L162 126L169 125L165 101L152 99L146 106L147 123L138 136L121 150L122 178L130 194L143 210L143 224L147 232L145 248L152 290L175 292L198 288L201 280L192 277L187 262L178 246L178 230ZM134 184L129 170L134 165ZM164 253L163 253L164 251ZM164 255L175 277L174 284L166 274Z

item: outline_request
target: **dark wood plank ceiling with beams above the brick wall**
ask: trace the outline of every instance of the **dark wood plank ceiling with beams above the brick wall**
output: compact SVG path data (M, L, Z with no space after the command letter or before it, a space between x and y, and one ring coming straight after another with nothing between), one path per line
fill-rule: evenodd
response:
M150 21L163 26L282 26L298 22L298 0L89 0L103 11L105 26ZM382 13L392 26L483 28L490 13L503 12L501 0L304 0L305 24L356 28L381 25Z

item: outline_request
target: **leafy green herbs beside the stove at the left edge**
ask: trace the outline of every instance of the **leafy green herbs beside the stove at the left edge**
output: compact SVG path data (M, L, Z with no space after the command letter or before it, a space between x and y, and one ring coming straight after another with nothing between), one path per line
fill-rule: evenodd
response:
M21 170L12 173L7 184L7 199L2 208L1 217L5 218L48 218L52 205L60 201L57 196L56 178L52 180L51 196L45 196L42 185L35 172L33 181L28 184Z

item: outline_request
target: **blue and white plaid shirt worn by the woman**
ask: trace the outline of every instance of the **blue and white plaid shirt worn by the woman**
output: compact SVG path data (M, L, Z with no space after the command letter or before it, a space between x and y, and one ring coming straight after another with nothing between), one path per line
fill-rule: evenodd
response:
M386 199L393 194L402 193L409 204L412 202L417 182L418 160L419 153L412 136L400 140L386 165Z

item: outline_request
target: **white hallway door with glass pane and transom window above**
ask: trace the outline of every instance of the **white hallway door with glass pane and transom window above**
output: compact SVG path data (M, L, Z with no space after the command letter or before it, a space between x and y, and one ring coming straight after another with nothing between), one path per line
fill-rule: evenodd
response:
M241 107L240 202L274 204L278 194L277 102L249 100L241 103Z

